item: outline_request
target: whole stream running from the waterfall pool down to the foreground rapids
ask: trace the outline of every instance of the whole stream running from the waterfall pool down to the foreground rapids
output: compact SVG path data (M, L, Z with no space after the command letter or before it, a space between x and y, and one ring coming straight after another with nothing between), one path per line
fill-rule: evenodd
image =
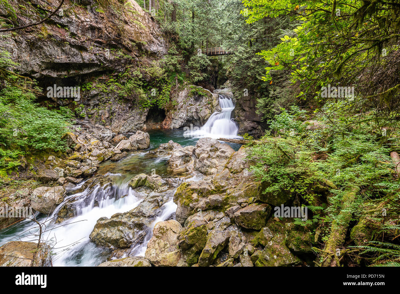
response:
M224 134L224 130L228 130L229 134L226 135L233 136L232 124L236 131L237 127L229 118L230 112L228 114L223 109L222 113L222 117L219 112L210 116L209 120L212 120L214 134ZM215 118L218 118L219 122ZM220 130L216 130L217 126L221 127ZM168 168L169 156L156 156L149 152L169 140L173 140L182 146L195 145L200 136L184 136L183 129L152 130L148 133L150 134L150 147L148 149L132 151L126 158L118 162L102 162L94 177L84 180L72 190L67 191L64 202L56 208L51 216L40 213L36 215L39 222L46 224L43 228L42 239L48 242L52 246L52 251L56 253L52 258L53 266L97 266L105 262L110 256L113 256L113 258L144 256L154 225L171 218L176 212L177 206L172 200L176 188L171 191L170 195L172 196L169 197L169 200L160 207L161 211L152 222L150 231L143 242L133 245L122 255L114 256L110 249L97 246L89 239L96 221L101 217L110 218L117 212L127 212L138 206L144 198L143 194L128 186L130 179L138 174L151 174L153 172L162 178L180 178L179 181L182 182L201 179L201 176L196 175L175 174ZM239 144L229 145L234 150L240 148ZM58 210L72 200L76 207L74 216L57 223L55 219ZM33 242L35 239L37 240L37 232L38 225L26 219L1 230L0 243L16 240Z

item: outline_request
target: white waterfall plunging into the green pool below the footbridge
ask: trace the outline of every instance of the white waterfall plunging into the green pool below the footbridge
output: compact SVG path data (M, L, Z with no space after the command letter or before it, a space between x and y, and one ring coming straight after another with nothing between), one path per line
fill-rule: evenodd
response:
M238 127L231 120L230 115L235 105L230 97L218 94L221 112L214 112L207 122L200 128L198 136L218 138L241 138L238 136Z

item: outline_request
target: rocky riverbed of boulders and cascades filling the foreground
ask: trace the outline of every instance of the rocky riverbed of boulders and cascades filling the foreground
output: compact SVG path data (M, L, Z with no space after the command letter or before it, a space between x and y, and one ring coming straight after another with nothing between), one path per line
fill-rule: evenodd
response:
M155 146L167 138L150 143L151 136L141 131L113 134L84 121L75 126L66 135L69 157L46 161L47 186L9 198L40 212L38 222L51 228L42 238L55 236L39 246L41 254L28 257L32 264L48 265L51 259L55 265L100 266L305 264L315 237L292 220L274 218L272 208L290 202L289 196L262 194L245 146L181 135L174 140L183 145L170 140ZM22 220L3 229L1 242L10 242L0 251L17 248L29 256L34 243L26 230L35 227ZM49 254L62 245L70 250ZM18 264L18 258L3 256L0 263Z

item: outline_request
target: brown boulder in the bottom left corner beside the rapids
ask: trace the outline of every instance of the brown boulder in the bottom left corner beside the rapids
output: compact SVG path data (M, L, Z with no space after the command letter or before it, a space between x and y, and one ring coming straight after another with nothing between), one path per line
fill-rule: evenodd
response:
M36 242L14 241L0 247L0 266L50 266L50 247ZM33 262L32 262L33 261Z

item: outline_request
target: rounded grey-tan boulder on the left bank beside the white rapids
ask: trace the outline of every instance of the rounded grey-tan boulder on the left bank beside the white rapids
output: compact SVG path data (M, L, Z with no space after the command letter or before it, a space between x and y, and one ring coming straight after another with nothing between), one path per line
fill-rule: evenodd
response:
M31 206L36 211L51 214L64 201L65 197L65 190L62 186L39 187L30 196Z

